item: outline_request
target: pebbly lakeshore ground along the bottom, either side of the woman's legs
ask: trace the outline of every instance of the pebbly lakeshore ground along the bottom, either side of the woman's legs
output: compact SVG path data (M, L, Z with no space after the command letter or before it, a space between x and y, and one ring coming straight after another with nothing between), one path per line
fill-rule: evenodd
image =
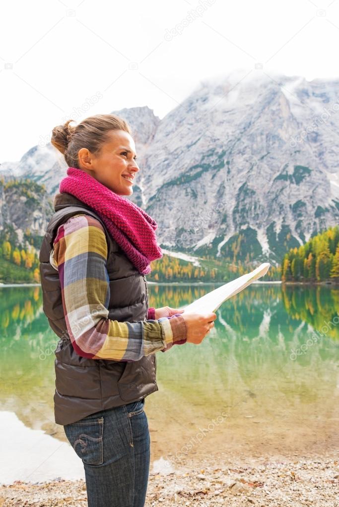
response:
M258 458L246 466L213 466L199 461L162 475L150 472L145 507L339 507L339 464L335 460L274 461ZM84 481L57 480L0 486L0 507L86 507Z

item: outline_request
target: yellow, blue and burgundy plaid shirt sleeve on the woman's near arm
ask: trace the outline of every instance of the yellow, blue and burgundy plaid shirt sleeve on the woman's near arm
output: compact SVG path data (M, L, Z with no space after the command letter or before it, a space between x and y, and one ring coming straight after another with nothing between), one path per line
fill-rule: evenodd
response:
M137 361L186 342L181 314L119 322L108 318L108 247L103 226L86 214L59 226L50 263L59 273L63 311L74 350L91 359ZM151 317L151 318L149 318Z

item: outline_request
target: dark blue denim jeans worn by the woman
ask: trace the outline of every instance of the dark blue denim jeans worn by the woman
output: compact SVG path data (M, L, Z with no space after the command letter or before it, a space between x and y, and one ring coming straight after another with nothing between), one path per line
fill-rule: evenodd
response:
M150 466L144 406L145 398L63 426L84 464L89 507L144 507Z

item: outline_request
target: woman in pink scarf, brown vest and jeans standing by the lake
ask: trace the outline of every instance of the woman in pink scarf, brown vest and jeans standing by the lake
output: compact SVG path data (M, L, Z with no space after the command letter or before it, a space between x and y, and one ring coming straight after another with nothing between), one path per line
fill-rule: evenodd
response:
M52 132L69 168L40 250L44 312L60 338L55 422L83 461L90 507L142 507L155 352L200 343L216 314L148 307L145 275L162 253L156 222L123 197L140 170L130 128L114 115L71 121Z

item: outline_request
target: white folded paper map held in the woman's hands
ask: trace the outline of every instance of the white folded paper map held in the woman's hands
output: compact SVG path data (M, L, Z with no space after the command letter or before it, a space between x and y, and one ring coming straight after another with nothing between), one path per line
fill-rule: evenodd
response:
M251 271L251 273L246 273L246 275L225 283L225 285L221 285L221 287L216 288L214 291L205 294L205 296L196 299L193 303L186 306L184 308L184 313L216 312L219 306L227 299L243 291L248 285L251 285L251 283L264 276L269 266L270 264L268 262L264 262L254 271Z

